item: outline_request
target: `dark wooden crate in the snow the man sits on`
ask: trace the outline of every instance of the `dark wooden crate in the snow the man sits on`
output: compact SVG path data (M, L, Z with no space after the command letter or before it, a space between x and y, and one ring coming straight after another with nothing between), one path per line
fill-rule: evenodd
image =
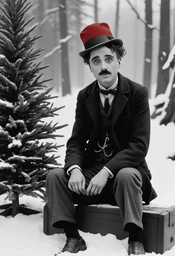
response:
M63 233L63 229L51 226L52 212L44 206L44 233L52 235ZM128 237L123 231L123 221L119 208L103 208L97 206L76 206L78 228L83 232L108 233L116 235L117 239ZM175 206L170 208L143 206L143 242L145 252L161 253L175 245Z

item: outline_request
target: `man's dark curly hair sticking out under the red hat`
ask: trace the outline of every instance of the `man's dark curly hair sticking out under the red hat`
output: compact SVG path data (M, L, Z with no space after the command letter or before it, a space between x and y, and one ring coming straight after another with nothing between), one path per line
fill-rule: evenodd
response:
M126 55L126 49L124 47L121 47L119 44L113 44L113 43L109 43L105 45L107 48L110 48L112 52L116 51L117 57L118 58L123 58L124 55ZM90 52L87 52L84 56L83 56L83 61L85 62L86 65L89 65L89 59L90 59Z

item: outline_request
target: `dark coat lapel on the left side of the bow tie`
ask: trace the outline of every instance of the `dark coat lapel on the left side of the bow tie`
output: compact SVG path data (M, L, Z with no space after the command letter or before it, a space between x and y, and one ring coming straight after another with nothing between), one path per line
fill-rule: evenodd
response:
M96 88L98 86L97 80L92 83L89 88L88 94L90 95L88 99L86 99L86 107L89 111L89 114L92 118L95 131L97 133L98 129L98 113L99 113L99 92L97 92Z

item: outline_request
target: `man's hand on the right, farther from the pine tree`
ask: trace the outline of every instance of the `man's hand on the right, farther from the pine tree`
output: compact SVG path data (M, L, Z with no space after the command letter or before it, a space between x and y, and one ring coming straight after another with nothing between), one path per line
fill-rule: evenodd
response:
M107 179L110 176L110 173L106 169L102 169L97 173L89 183L89 186L86 190L86 195L97 195L100 194L106 185Z

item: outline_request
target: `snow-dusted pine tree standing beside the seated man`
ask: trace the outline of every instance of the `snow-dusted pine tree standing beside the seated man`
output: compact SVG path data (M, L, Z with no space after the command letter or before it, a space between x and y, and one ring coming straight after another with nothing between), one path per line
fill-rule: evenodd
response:
M30 37L36 26L25 31L35 18L25 21L32 6L26 2L6 0L0 7L4 13L0 16L0 195L7 194L6 199L12 201L12 216L19 213L22 195L46 200L45 178L60 165L58 148L64 146L50 139L63 137L54 132L67 125L43 120L58 116L55 112L62 107L53 107L51 100L58 96L48 95L52 88L44 89L43 83L52 79L40 81L40 71L49 65L35 63L44 48L32 49L42 35Z

